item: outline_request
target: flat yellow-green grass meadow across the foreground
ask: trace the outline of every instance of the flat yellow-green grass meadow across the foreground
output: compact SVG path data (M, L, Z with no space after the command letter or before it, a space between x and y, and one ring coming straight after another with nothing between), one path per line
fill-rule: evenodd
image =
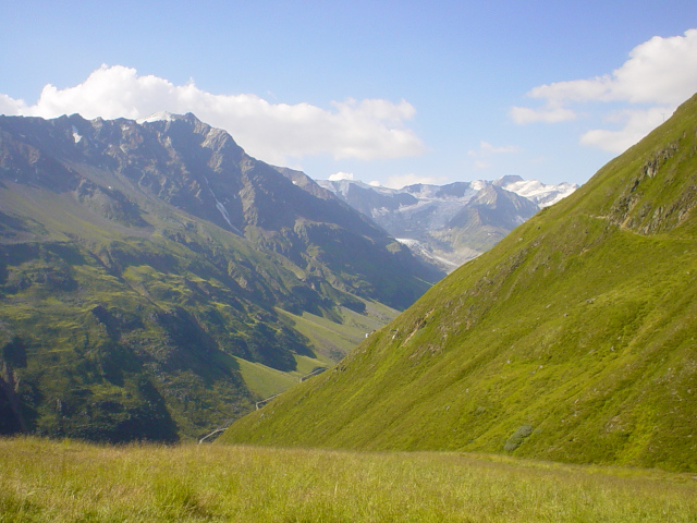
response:
M0 522L688 522L697 482L458 453L0 439Z

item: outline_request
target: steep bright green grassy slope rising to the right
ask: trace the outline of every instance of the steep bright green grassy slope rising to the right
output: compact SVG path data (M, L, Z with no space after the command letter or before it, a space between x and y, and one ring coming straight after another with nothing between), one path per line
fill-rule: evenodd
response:
M697 471L697 97L223 441Z

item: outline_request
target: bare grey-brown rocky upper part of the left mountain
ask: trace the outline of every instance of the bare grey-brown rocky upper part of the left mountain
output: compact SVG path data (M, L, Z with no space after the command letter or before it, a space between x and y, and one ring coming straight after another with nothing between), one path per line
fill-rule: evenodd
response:
M433 282L442 276L304 173L250 158L228 133L191 113L139 123L86 121L78 115L48 122L4 118L0 129L13 136L0 157L4 178L56 192L74 191L81 203L126 224L140 219L129 197L78 171L103 170L107 178L126 182L129 191L216 223L310 272L331 272L341 290L398 308L426 290L419 280ZM369 259L357 259L354 248ZM323 262L329 252L337 265ZM375 264L384 271L376 273ZM399 280L400 296L383 289L387 275ZM362 284L355 284L356 278Z

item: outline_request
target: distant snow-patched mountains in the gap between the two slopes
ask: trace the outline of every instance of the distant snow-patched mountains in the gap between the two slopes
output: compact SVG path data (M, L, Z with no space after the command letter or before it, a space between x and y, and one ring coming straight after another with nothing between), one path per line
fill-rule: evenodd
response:
M571 183L547 185L515 175L493 182L416 184L399 190L354 180L317 183L445 271L488 251L540 208L578 188Z

